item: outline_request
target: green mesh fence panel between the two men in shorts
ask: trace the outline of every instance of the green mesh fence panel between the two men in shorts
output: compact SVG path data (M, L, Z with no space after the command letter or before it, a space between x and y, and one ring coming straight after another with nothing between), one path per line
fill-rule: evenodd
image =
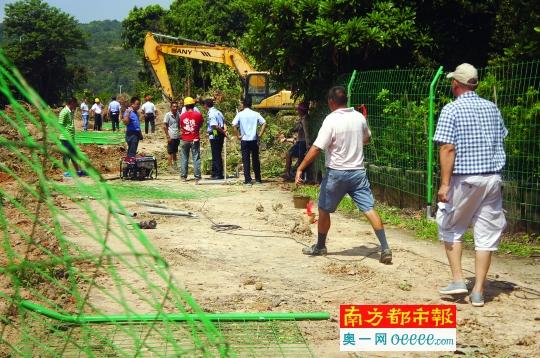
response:
M378 200L422 207L426 197L427 115L433 69L357 72L350 101L365 105L372 143L366 166Z

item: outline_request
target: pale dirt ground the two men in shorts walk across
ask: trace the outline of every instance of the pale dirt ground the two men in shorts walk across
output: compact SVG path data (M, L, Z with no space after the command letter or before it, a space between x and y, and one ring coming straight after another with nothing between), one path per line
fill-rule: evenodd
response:
M163 135L147 136L140 148L163 157ZM144 213L135 201L123 204L142 212L137 219L157 220L156 229L145 231L148 238L208 312L327 311L332 317L328 321L300 323L305 337L317 356L352 357L339 352L340 304L450 303L458 311L457 354L531 357L540 352L538 258L495 257L486 305L474 308L467 298L438 294L450 278L440 244L387 227L394 262L382 265L377 239L359 216L334 214L328 256L302 255L302 247L315 240L316 224L307 223L305 210L293 207L291 188L281 181L253 187L195 185L167 174L140 183L141 190L156 185L200 194L201 199L162 200L170 208L196 213L197 218L156 217ZM212 222L240 229L219 232L211 228ZM466 252L463 258L469 280L474 279L473 255Z

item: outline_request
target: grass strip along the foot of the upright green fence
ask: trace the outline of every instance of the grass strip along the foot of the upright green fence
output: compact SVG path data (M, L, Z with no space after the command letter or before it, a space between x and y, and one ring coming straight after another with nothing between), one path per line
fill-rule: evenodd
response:
M314 200L319 195L318 186L301 186L297 187L295 191ZM385 225L410 230L415 238L421 240L438 240L437 224L432 220L428 220L423 211L399 209L383 203L377 203L376 209ZM338 210L344 214L365 220L348 195L341 200ZM463 235L463 242L466 248L474 248L474 238L471 231L467 231ZM504 234L498 252L515 256L538 255L540 254L540 236L535 234Z

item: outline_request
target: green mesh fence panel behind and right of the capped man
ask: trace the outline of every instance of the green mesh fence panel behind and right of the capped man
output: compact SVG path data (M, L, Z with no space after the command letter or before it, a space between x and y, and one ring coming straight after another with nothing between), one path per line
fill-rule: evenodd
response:
M508 128L504 208L515 230L540 231L540 61L479 70L478 94L497 104ZM449 81L437 88L439 109L452 99ZM437 148L436 148L437 149ZM435 154L435 158L438 155ZM438 167L437 167L438 169ZM438 170L434 175L438 184ZM435 185L433 190L435 191Z

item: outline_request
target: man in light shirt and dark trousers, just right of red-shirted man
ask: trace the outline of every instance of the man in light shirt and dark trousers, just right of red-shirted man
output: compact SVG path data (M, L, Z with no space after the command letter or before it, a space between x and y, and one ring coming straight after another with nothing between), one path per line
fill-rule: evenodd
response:
M221 152L227 137L225 117L223 117L220 110L214 107L214 100L211 98L204 101L204 107L208 110L208 127L206 131L210 138L210 148L212 150L212 179L224 179Z

